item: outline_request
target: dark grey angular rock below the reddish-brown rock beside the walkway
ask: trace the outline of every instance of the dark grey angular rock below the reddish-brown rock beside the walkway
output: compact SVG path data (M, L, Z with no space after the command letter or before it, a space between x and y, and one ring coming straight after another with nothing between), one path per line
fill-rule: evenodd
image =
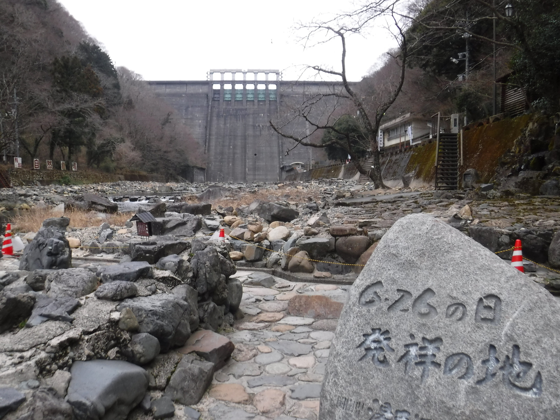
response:
M197 404L211 384L213 372L214 363L185 354L165 388L165 395L181 404Z

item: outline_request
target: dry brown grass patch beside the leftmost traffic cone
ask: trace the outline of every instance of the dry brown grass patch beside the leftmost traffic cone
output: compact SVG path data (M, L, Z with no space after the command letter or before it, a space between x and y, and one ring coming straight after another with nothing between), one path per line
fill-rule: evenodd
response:
M97 212L84 210L67 210L65 217L70 218L71 227L91 227L99 226L103 222L109 225L124 226L124 222L133 216L133 213L114 213L108 214L106 219L97 217ZM50 209L38 208L21 211L20 214L11 218L12 231L16 232L36 232L41 227L43 221L49 217L60 217L60 213L54 214Z

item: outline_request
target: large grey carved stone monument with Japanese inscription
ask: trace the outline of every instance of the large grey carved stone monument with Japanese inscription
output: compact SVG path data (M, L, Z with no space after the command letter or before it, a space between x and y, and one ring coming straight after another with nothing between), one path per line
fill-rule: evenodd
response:
M320 420L560 418L560 302L426 214L397 221L353 285Z

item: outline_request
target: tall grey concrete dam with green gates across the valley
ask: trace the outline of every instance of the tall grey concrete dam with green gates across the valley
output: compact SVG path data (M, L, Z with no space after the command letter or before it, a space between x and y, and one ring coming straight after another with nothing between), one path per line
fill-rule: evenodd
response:
M176 111L197 139L207 160L197 181L274 182L282 166L326 160L322 149L294 146L270 127L304 100L343 89L341 82L283 81L278 70L217 69L204 81L150 81L152 91ZM309 133L295 120L287 133ZM307 130L307 131L306 131ZM204 178L203 178L204 177Z

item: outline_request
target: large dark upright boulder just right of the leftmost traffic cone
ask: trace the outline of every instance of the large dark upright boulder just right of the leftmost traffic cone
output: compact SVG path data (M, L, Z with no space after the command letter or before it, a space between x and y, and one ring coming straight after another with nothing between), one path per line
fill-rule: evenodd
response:
M64 233L56 226L41 227L20 260L20 270L72 267L72 251Z

